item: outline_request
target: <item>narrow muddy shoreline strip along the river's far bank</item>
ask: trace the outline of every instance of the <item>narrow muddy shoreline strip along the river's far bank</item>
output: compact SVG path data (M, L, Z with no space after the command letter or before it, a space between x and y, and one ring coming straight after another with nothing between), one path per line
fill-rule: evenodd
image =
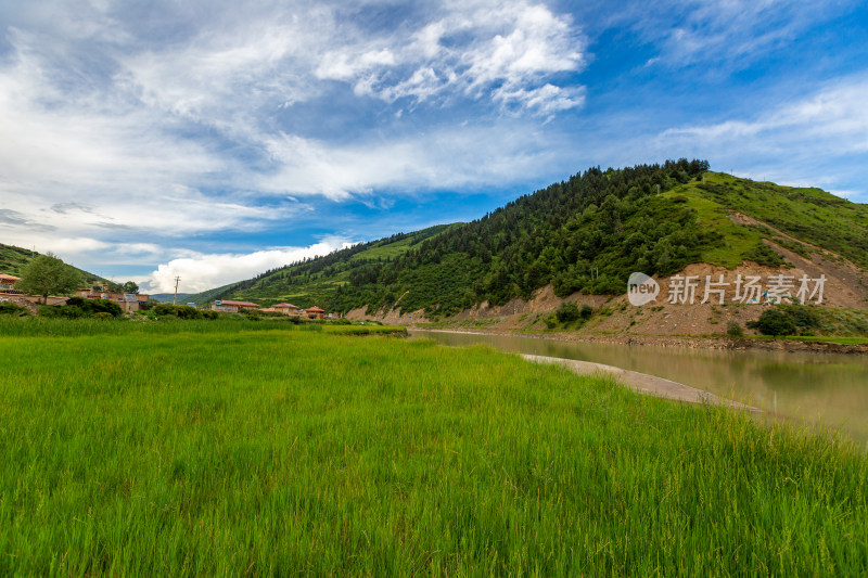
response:
M685 337L665 335L577 335L571 333L523 333L505 330L429 329L409 325L408 330L468 335L510 335L558 342L595 343L627 346L684 347L689 349L762 350L809 354L868 355L868 344L844 345L829 342L794 342L789 339L745 339L740 337Z

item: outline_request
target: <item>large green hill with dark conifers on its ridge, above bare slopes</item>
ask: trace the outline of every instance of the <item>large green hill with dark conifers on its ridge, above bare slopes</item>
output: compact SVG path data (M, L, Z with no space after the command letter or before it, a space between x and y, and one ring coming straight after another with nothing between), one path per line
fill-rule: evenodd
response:
M591 168L483 218L395 235L212 291L207 299L280 300L346 311L368 305L424 309L432 318L487 300L621 294L633 271L672 274L691 262L780 265L767 227L868 267L868 206L818 189L779 187L709 171L703 160ZM204 303L205 294L196 297Z

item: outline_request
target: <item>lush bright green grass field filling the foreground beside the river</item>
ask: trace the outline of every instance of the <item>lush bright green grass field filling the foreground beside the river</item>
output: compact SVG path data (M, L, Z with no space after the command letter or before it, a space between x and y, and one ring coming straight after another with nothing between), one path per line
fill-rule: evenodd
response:
M846 440L483 347L130 325L0 337L0 575L868 573Z

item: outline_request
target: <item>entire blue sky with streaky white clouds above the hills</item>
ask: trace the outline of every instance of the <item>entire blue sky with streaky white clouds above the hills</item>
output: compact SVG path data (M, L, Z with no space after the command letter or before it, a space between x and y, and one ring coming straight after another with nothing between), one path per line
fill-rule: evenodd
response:
M0 0L0 243L195 293L595 166L868 203L867 103L860 1Z

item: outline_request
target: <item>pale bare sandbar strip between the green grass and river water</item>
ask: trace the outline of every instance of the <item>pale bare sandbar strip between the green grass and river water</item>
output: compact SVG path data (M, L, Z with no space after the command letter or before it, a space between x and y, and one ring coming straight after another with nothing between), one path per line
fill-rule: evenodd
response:
M557 357L532 356L522 354L522 357L534 363L554 363L577 373L578 375L611 375L620 383L623 383L634 391L644 395L662 397L666 399L675 399L677 401L687 401L689 403L711 403L713 406L726 406L733 409L749 410L756 413L762 413L763 410L731 399L726 399L695 387L690 387L678 382L672 382L649 375L647 373L639 373L637 371L623 370L612 365L604 365L602 363L592 363L590 361L576 361L574 359L560 359Z

